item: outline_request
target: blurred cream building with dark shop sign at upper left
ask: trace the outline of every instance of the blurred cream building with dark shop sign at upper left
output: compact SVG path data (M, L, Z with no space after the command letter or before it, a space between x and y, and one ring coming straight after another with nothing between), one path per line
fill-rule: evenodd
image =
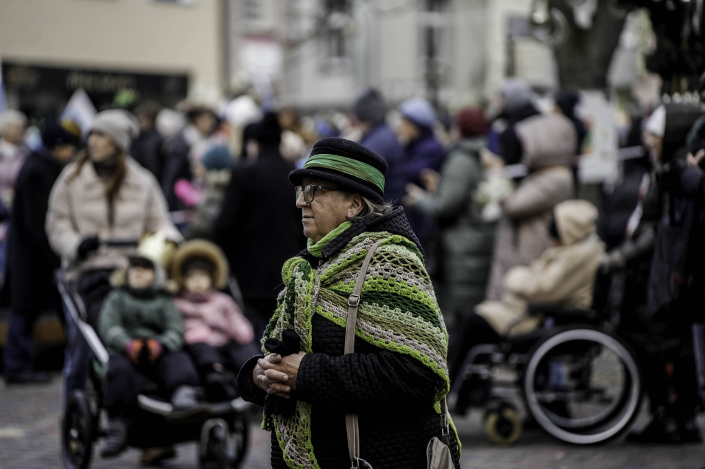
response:
M173 105L215 103L226 71L219 0L4 0L0 63L9 107L56 115L75 89Z

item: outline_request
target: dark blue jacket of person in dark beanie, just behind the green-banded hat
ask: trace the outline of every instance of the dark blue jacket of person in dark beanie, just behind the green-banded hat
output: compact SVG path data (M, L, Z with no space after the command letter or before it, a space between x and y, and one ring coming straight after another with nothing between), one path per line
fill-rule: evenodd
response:
M384 175L384 200L400 201L404 196L404 149L399 144L391 127L384 120L380 121L363 136L360 144L381 156L387 162Z

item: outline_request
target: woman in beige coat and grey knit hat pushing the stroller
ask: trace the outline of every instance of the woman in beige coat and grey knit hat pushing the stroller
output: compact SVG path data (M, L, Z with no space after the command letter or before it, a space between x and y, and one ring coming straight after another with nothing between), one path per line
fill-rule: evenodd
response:
M133 115L121 110L99 113L91 125L87 151L64 168L49 196L49 243L61 256L67 277L75 280L94 324L112 271L127 267L125 248L103 242L136 241L158 230L167 239L181 240L157 180L127 154L137 132ZM85 389L91 357L75 323L66 319L65 402L75 389Z

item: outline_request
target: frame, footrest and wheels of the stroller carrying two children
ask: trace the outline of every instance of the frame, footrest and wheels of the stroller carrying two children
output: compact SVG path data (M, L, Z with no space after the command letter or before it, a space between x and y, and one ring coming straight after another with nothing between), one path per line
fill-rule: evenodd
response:
M61 270L56 280L69 313L68 320L73 320L93 354L87 390L75 390L68 396L60 424L63 468L86 469L90 467L94 443L105 435L102 375L109 354L80 306L75 282L68 282ZM200 468L238 468L247 454L250 439L249 408L250 404L238 397L207 404L205 413L188 416L173 411L157 385L148 384L137 398L137 411L128 426L128 446L145 449L195 441L199 445Z

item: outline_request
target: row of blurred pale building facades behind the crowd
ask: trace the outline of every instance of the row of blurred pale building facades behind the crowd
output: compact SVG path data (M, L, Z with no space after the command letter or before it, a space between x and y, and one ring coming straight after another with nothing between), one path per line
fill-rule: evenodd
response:
M367 85L391 105L427 96L453 111L489 98L508 75L556 89L551 49L529 32L532 4L3 0L0 63L8 106L30 113L56 113L78 88L98 108L120 89L173 106L185 96L217 104L248 83L304 111L347 108ZM625 47L612 75L628 86L637 54Z

